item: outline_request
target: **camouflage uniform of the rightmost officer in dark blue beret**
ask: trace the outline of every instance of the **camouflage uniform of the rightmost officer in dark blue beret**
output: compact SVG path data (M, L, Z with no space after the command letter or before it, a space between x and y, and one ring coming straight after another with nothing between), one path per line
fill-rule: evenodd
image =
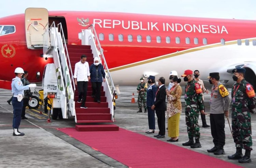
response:
M252 150L250 109L255 108L255 92L245 79L234 83L232 97L232 136L237 148Z

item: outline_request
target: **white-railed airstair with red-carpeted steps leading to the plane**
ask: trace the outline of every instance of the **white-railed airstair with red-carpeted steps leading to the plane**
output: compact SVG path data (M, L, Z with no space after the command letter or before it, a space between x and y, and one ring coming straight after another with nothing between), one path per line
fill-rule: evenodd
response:
M68 118L67 114L69 113L70 116L75 116L76 123L114 122L116 90L95 28L91 26L82 31L81 37L84 45L67 45L61 23L56 26L53 22L47 30L44 33L43 50L44 55L52 54L53 56L63 118ZM49 40L50 44L47 43ZM98 57L106 73L106 81L102 82L101 87L101 103L94 102L94 98L91 97L91 82L88 82L85 103L87 109L80 108L81 104L77 103L78 92L73 79L75 63L81 60L83 54L87 56L89 65L93 64L95 57Z

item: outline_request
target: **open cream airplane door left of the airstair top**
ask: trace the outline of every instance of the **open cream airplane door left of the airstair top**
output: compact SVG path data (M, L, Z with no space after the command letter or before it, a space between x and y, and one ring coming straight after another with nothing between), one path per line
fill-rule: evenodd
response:
M25 29L27 47L43 47L43 34L48 29L48 11L45 8L27 8L25 10Z

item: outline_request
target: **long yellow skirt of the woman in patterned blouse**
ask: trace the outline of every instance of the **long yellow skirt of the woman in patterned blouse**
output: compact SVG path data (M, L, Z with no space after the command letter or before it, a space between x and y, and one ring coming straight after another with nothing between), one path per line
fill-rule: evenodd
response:
M168 136L171 138L179 136L180 116L181 113L177 113L168 118Z

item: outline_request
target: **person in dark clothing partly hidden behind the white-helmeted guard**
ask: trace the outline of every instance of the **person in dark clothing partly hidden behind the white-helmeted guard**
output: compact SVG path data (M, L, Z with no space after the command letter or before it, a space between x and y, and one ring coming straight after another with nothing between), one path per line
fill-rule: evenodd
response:
M24 71L23 78L21 79L21 81L23 83L23 86L29 85L29 81L28 81L27 77L28 77L28 71ZM25 90L24 91L24 98L23 98L22 116L21 116L22 119L28 119L25 116L25 114L26 114L25 111L26 111L26 107L28 105L28 101L31 100L31 97L32 97L32 93L30 92L30 89Z

